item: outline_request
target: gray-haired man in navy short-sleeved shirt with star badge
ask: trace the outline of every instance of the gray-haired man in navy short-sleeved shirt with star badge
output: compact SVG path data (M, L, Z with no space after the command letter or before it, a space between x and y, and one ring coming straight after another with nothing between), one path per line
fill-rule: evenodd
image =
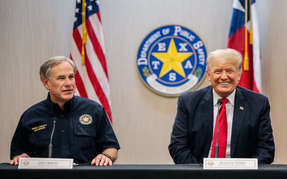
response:
M76 71L74 62L63 56L52 57L40 67L48 97L21 116L11 142L11 165L18 165L20 157L48 157L54 118L53 158L105 166L116 161L120 147L105 109L74 96Z

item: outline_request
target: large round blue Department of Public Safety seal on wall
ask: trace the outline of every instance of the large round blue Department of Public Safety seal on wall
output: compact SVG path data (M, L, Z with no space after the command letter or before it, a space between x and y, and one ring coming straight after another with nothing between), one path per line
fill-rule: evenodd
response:
M207 51L191 30L177 25L152 31L140 44L137 69L153 92L178 96L195 89L204 79Z

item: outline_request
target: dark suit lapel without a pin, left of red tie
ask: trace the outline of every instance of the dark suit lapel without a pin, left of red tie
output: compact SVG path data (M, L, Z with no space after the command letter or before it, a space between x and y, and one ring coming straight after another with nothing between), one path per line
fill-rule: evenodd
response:
M209 88L206 96L203 97L200 103L201 117L204 130L204 157L208 157L210 144L213 135L213 95L212 87Z

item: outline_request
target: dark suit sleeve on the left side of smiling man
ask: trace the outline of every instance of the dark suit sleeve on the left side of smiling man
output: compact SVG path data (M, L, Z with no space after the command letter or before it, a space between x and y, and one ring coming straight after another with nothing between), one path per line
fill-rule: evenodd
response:
M169 145L170 155L175 164L197 164L189 147L189 115L182 96L179 96L177 106Z

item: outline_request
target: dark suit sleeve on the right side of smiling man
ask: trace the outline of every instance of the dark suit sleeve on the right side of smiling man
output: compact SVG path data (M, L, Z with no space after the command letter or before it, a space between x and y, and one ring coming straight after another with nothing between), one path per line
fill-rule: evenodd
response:
M258 164L271 164L274 161L275 145L272 133L270 105L266 97L259 120L257 150L253 156L258 158Z

